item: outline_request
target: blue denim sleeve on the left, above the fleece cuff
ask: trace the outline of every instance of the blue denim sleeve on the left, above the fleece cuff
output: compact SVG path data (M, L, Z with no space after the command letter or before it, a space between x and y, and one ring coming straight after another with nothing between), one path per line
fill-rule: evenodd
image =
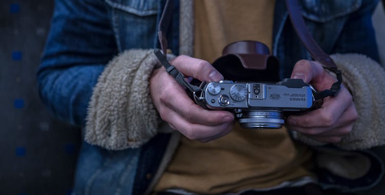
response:
M84 126L92 88L117 54L109 13L100 0L56 0L37 72L40 96L54 115Z

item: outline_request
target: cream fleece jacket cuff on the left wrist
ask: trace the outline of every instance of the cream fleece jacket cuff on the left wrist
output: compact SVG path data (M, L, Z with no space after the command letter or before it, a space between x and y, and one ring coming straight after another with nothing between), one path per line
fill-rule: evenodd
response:
M98 79L88 106L85 141L107 149L140 147L158 132L149 78L158 59L152 50L127 50Z

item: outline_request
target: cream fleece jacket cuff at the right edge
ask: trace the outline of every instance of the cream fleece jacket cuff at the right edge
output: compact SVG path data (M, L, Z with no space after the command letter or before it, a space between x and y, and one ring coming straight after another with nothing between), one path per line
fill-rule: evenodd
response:
M331 55L342 71L343 82L351 90L359 118L352 132L336 143L342 149L365 149L385 144L385 71L371 58L361 54ZM325 143L296 132L294 138L309 145Z

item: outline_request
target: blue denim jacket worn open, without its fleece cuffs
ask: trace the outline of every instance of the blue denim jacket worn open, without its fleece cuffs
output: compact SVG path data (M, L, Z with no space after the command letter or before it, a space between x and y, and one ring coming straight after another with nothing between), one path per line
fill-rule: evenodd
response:
M74 126L85 125L92 89L113 56L133 48L159 48L157 24L165 1L56 0L51 30L38 69L44 103ZM371 23L377 1L302 0L307 28L326 53L361 53L378 61ZM179 54L179 1L175 1L168 46ZM354 32L354 33L353 33ZM273 52L281 78L296 61L311 59L300 44L283 1L274 15ZM143 194L157 171L170 135L158 134L140 148L111 151L83 143L75 194Z

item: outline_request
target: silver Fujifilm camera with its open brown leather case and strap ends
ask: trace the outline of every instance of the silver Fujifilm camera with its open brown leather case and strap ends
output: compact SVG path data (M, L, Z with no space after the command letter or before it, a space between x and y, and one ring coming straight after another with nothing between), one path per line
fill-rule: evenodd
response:
M302 79L279 81L278 59L258 41L237 41L223 49L222 57L212 63L224 77L219 82L193 79L188 83L159 50L155 54L198 105L235 113L243 128L281 128L286 116L317 109L323 97L334 94L331 90L316 92Z

